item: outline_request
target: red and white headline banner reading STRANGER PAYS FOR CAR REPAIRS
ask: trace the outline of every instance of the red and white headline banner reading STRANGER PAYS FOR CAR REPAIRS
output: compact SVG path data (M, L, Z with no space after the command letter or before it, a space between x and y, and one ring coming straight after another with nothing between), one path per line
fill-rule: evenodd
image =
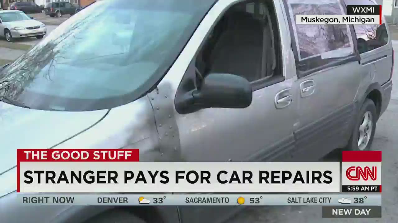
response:
M142 162L138 149L18 149L20 193L330 193L339 162Z

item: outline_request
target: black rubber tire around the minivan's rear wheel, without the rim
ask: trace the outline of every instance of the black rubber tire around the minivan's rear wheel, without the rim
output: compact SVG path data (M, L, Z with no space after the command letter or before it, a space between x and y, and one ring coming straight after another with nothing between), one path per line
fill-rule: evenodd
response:
M363 150L370 150L373 142L373 138L375 136L375 130L376 130L376 122L378 119L377 116L377 110L375 103L373 103L372 100L366 99L365 102L363 102L363 105L358 113L357 119L355 121L354 129L351 133L351 137L348 141L347 147L345 149L347 150L360 150L358 146L358 141L359 141L359 126L363 123L363 118L366 112L370 112L372 117L372 127L371 127L371 135L369 142L367 143L366 147Z

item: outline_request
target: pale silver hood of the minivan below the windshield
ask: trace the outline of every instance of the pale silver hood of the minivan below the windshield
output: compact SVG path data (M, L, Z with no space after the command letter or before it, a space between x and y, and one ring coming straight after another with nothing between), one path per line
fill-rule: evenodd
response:
M107 111L43 111L0 102L0 173L16 165L16 149L51 148L92 127Z

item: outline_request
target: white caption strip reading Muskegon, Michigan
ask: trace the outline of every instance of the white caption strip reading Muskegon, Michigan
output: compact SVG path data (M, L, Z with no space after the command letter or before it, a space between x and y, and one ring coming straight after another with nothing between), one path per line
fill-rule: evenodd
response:
M298 25L373 25L379 15L296 15Z

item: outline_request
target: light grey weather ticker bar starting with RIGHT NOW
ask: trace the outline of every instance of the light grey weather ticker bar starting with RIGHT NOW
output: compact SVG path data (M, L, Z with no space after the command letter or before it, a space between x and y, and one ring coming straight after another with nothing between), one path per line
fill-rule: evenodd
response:
M17 199L21 205L381 206L381 194L18 194Z

